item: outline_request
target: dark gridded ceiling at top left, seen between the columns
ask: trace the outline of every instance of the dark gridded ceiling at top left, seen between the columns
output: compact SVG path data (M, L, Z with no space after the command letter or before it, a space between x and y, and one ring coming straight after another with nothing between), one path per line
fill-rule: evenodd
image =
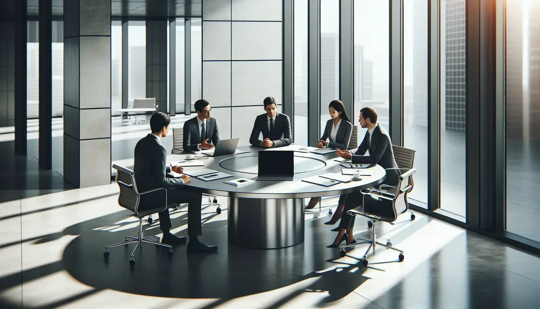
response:
M0 0L6 2L9 0ZM11 0L19 1L19 0ZM39 0L28 1L28 16L38 16ZM64 15L64 1L52 0L52 15ZM111 0L111 16L113 17L201 17L203 14L203 0Z

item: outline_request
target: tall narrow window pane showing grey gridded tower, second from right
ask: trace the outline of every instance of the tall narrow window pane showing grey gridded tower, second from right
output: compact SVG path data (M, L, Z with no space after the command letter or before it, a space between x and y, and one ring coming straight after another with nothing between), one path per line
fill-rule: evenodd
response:
M440 1L441 203L465 216L465 0Z

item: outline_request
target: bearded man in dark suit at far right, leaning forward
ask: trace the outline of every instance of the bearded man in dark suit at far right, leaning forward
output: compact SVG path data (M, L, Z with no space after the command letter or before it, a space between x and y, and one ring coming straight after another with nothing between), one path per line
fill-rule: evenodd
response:
M350 151L341 151L338 149L336 155L343 159L350 159L353 163L375 163L380 165L386 169L386 179L383 183L395 186L400 172L396 160L394 159L394 150L392 149L390 135L386 129L377 123L377 112L372 107L365 107L360 110L359 122L362 128L368 129L360 146ZM368 150L369 155L364 155ZM338 244L345 232L347 232L349 243L354 242L354 215L349 215L347 212L350 209L361 206L362 198L363 192L347 194L347 200L345 201L345 207L339 225L340 229L338 231L338 236L336 237L334 244L329 247L334 247ZM336 210L336 212L338 211L339 209Z

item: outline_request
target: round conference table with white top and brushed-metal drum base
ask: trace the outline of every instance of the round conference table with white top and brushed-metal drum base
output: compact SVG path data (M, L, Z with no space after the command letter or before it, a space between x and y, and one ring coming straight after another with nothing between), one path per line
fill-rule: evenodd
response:
M326 173L341 173L339 157L335 153L326 155L294 152L294 178L292 181L257 180L246 185L234 186L224 181L246 178L255 179L258 175L258 152L273 150L294 150L302 148L291 145L280 148L260 148L240 146L246 153L209 157L200 155L196 160L205 166L185 167L185 171L210 168L233 177L212 181L192 177L186 184L201 193L228 197L228 241L231 244L248 248L283 248L299 244L304 239L304 201L305 198L332 196L375 187L386 177L379 165L371 165L363 170L371 170L371 176L362 180L325 187L302 181L307 177ZM197 155L197 154L196 154ZM183 161L185 154L167 156L171 161ZM280 162L268 162L279 165ZM181 163L180 163L181 166Z

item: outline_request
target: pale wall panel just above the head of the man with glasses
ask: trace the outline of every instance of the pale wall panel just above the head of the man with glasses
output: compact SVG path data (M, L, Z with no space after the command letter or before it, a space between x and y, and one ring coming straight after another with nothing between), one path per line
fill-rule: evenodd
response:
M231 62L203 62L203 98L210 106L231 106Z

